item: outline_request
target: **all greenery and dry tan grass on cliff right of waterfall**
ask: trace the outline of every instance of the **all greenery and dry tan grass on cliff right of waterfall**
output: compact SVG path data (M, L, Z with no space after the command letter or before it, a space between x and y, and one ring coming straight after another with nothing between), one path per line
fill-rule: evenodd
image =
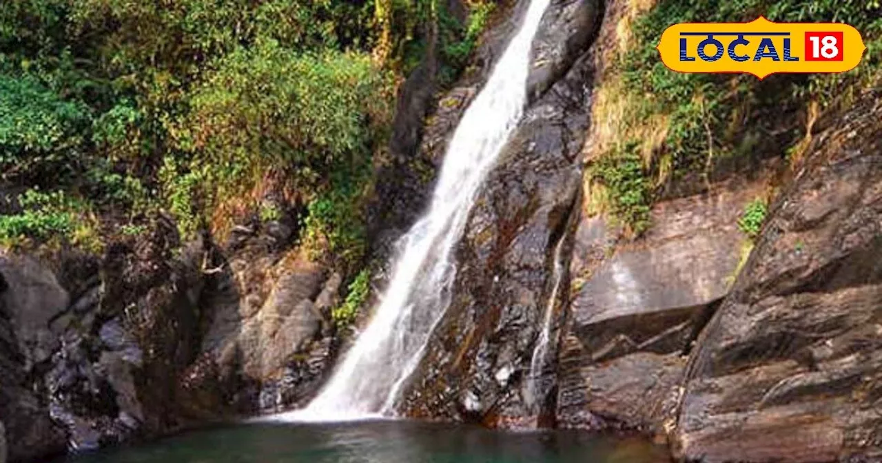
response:
M654 199L676 195L677 183L708 184L726 163L774 155L796 161L820 116L848 107L860 89L882 81L882 4L875 0L631 0L626 10L619 47L605 51L607 76L596 89L594 120L602 123L594 134L598 155L587 182L604 198L598 209L609 210L637 235L649 225ZM844 74L760 81L752 75L676 73L659 60L655 46L672 24L743 22L760 15L855 26L867 45L863 61ZM626 190L610 181L618 177L632 178Z

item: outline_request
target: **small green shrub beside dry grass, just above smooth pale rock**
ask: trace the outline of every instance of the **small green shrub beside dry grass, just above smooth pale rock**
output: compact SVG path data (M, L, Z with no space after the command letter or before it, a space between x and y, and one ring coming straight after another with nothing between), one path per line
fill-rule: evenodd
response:
M640 235L649 228L652 183L647 178L636 145L624 146L613 155L604 156L590 169L594 182L606 188L609 213Z

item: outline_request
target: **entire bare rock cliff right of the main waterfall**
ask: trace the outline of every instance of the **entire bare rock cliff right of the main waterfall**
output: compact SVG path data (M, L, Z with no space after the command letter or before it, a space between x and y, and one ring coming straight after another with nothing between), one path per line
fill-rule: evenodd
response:
M798 164L770 151L717 161L703 184L675 181L634 239L592 211L592 191L571 190L567 172L582 168L572 143L584 140L590 159L587 127L603 121L560 100L581 87L582 105L594 104L627 5L574 4L548 15L570 11L588 25L603 13L594 53L532 103L527 115L545 116L525 117L490 176L460 243L452 302L400 410L493 427L639 430L688 460L878 458L878 93L828 116ZM774 205L751 237L739 220L760 198ZM561 280L568 291L555 291ZM537 372L544 310L551 358Z

